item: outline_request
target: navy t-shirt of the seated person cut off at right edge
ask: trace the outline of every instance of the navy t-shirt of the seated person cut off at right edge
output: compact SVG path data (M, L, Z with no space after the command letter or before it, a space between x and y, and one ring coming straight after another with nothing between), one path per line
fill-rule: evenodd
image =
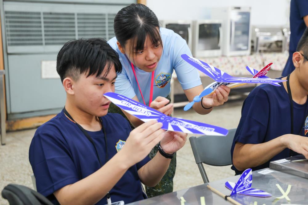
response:
M281 79L281 78L279 78ZM236 142L243 144L260 144L273 140L279 136L291 133L291 111L289 95L282 85L274 86L263 84L251 91L242 106L242 115L238 124L233 144L231 157ZM304 126L308 114L308 101L305 104L297 104L294 107L294 134L305 136ZM292 155L296 155L291 151ZM290 149L286 148L268 162L252 168L254 170L267 168L270 161L279 160L290 156ZM236 175L241 174L234 165L231 167Z

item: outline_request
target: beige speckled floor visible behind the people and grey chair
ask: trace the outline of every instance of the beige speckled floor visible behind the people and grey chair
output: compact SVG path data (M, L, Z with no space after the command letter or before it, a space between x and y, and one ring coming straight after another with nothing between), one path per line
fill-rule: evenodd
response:
M230 101L204 116L196 114L193 110L184 112L182 109L176 109L173 116L231 129L237 127L241 117L241 105L242 101ZM7 144L0 146L0 191L8 183L17 183L33 188L30 178L32 169L28 160L28 151L34 132L35 129L7 133ZM230 166L213 167L205 165L205 171L210 181L234 175L234 171L230 169ZM174 191L201 183L203 181L187 139L185 146L177 152ZM8 203L0 197L0 204Z

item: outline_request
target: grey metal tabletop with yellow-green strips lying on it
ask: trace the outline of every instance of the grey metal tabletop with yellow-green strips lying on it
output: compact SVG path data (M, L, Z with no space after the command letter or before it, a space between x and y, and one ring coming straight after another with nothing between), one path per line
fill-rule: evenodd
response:
M260 174L258 171L262 171L264 169L253 171L253 183L252 187L261 189L266 191L273 196L271 197L253 197L246 195L234 195L233 199L238 201L241 204L254 204L254 205L263 205L263 204L308 204L308 179L301 178L295 175L290 175L281 171L275 171L270 168L273 172L268 174ZM201 176L200 176L201 177ZM225 187L226 181L237 182L239 179L239 175L232 176L227 179L222 179L215 182L208 183L211 187L217 189L224 195L229 195L230 190ZM280 197L283 195L281 191L279 191L276 184L282 188L283 191L286 191L288 185L291 185L290 192L288 193L288 197L290 198L290 202L287 201L286 198L276 199L276 197ZM196 187L191 187L187 189L183 189L180 191L175 191L172 193L168 193L165 195L156 196L150 199L144 199L138 202L130 203L130 205L150 205L150 204L181 204L181 197L186 201L185 205L209 205L209 204L230 204L228 201L225 201L222 197L210 191L207 187L207 184L202 184ZM205 203L201 203L201 197L204 197ZM182 200L183 200L182 198ZM182 203L183 204L183 203Z

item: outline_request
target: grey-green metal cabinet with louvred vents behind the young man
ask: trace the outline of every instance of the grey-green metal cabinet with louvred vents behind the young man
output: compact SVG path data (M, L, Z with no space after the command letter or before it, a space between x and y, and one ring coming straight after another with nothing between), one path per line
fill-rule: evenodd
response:
M59 112L65 91L59 78L43 78L42 65L54 62L69 40L114 37L115 14L135 2L1 1L8 119Z

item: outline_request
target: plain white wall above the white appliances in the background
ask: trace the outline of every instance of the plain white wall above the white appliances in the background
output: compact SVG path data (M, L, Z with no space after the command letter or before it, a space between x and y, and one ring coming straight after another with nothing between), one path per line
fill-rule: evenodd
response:
M251 24L289 25L290 0L147 0L159 20L194 20L209 16L209 8L250 6Z

